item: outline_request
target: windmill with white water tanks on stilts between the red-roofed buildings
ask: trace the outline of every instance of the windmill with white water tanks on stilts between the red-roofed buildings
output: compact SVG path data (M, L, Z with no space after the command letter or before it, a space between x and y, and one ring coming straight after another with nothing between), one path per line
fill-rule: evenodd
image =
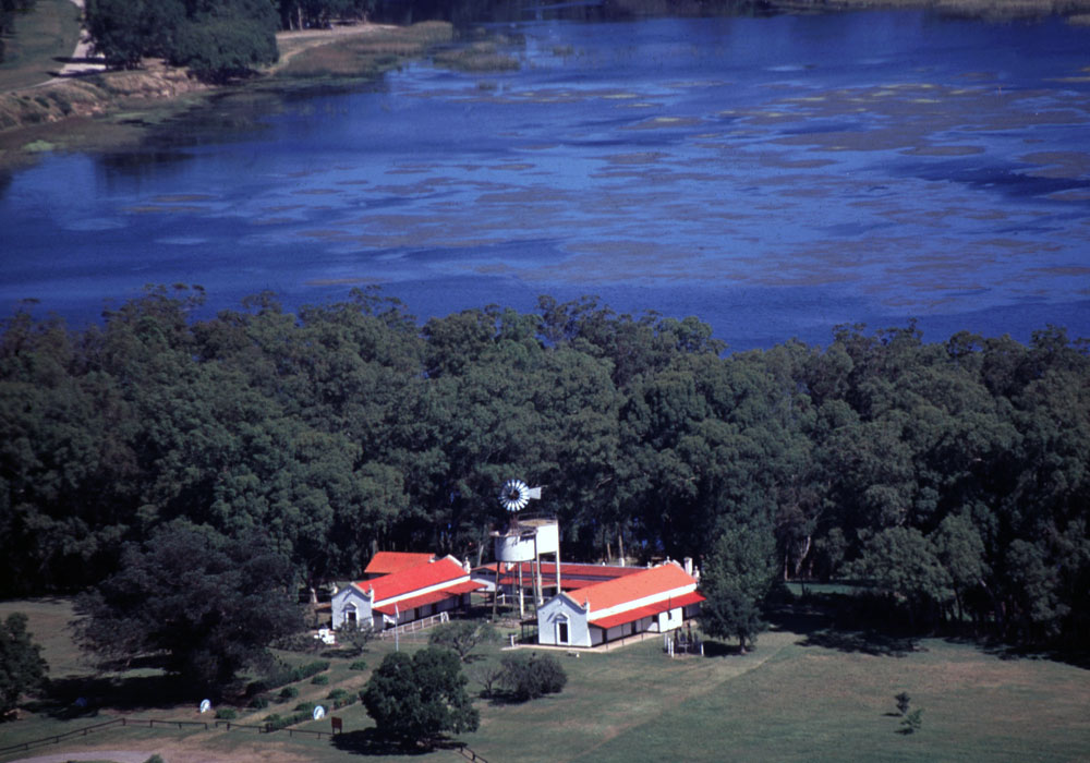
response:
M525 611L522 598L523 562L531 562L535 605L541 605L543 600L541 580L542 554L554 554L556 556L556 589L558 593L560 591L560 531L556 518L533 517L522 522L519 521L519 512L526 508L531 500L540 500L541 497L541 487L530 487L522 480L508 480L505 482L498 496L499 505L510 516L511 521L505 532L493 532L492 534L495 538L497 596L499 592L500 562L514 562L518 565L520 617Z

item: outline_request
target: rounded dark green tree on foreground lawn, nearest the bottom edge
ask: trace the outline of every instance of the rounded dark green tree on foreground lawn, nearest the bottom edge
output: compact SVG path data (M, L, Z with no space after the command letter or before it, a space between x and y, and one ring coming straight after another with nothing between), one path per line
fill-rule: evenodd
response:
M480 723L458 655L438 646L387 655L360 698L378 730L405 744L431 746L439 735L475 731Z

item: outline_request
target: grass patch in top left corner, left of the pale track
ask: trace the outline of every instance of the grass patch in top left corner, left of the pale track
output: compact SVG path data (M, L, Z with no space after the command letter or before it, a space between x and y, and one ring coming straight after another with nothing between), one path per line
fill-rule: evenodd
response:
M50 78L80 41L80 9L71 0L38 0L15 19L15 34L4 38L0 93L31 87Z

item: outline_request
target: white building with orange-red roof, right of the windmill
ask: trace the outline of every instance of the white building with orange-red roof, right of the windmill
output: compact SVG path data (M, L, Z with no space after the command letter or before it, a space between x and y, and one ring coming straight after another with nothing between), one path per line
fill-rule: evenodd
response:
M537 641L597 646L635 633L664 633L694 617L703 601L697 579L668 561L554 596L537 610Z

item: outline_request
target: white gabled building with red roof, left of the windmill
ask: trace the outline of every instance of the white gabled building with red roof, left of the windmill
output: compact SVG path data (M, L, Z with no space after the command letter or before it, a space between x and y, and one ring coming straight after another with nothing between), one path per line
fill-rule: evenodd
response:
M433 559L338 591L332 598L332 627L385 630L461 609L480 588L453 557Z

